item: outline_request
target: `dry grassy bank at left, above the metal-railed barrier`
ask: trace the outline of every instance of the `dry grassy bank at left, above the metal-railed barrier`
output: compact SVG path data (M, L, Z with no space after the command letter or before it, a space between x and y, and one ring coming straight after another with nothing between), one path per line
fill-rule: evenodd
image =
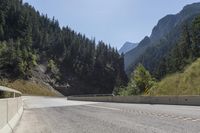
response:
M1 80L0 85L18 90L22 92L22 94L36 96L56 96L56 94L49 90L47 86L29 80Z

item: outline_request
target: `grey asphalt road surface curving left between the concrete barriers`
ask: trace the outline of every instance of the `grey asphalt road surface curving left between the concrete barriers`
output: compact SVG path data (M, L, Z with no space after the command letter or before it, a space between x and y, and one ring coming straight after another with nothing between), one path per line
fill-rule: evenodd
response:
M23 97L14 133L200 133L200 107Z

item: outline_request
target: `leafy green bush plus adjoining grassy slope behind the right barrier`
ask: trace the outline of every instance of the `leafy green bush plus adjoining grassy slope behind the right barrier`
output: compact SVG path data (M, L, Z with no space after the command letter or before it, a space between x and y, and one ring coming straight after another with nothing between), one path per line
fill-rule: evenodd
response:
M156 82L140 64L133 72L127 87L116 88L120 96L200 95L200 58L185 67L183 72L170 74Z

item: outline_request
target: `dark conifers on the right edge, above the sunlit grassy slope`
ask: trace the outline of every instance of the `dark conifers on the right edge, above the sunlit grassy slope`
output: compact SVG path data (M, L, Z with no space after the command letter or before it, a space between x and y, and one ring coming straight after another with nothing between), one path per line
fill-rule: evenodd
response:
M167 74L182 71L188 64L200 57L200 17L192 24L184 24L179 41L161 60L155 75L158 79Z

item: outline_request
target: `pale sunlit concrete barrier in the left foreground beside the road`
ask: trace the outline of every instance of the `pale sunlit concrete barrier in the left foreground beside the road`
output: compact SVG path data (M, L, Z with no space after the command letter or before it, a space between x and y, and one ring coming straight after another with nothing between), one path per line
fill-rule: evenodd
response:
M11 133L22 113L21 97L0 99L0 133Z

